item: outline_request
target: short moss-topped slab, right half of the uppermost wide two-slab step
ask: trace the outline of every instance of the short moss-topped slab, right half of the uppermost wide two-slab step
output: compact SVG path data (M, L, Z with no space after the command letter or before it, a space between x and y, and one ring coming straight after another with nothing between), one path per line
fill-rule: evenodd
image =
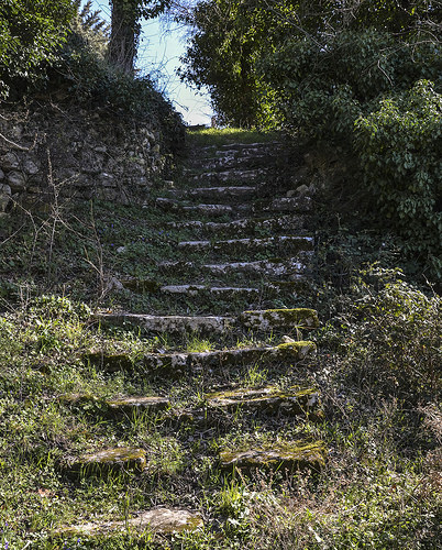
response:
M319 327L317 311L307 308L243 311L240 315L240 322L244 327L259 331L294 327L316 329Z

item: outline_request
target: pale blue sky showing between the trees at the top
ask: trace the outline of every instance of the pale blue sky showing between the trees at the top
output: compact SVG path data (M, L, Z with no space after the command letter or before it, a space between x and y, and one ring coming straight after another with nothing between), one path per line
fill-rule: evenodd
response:
M110 21L108 0L92 0L95 10ZM136 68L152 75L158 89L170 99L188 124L208 124L213 114L208 95L200 95L181 82L176 75L179 57L186 51L186 29L164 18L143 21Z

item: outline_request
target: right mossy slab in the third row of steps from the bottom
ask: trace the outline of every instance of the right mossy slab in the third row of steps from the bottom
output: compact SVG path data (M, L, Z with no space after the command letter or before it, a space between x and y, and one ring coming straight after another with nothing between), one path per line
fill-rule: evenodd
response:
M313 388L288 388L275 386L236 388L206 395L209 409L257 411L265 414L308 415L318 408L319 392Z

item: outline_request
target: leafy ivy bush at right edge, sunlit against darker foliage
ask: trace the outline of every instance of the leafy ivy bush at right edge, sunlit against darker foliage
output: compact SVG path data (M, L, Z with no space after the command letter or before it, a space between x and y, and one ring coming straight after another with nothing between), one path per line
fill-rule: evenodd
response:
M354 138L385 224L442 277L442 95L421 80L358 118Z

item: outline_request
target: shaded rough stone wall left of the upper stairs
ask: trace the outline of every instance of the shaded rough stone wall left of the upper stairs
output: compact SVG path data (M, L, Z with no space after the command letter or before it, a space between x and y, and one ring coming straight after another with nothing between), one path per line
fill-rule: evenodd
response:
M3 105L0 134L0 212L55 197L140 201L167 158L152 124L73 105Z

